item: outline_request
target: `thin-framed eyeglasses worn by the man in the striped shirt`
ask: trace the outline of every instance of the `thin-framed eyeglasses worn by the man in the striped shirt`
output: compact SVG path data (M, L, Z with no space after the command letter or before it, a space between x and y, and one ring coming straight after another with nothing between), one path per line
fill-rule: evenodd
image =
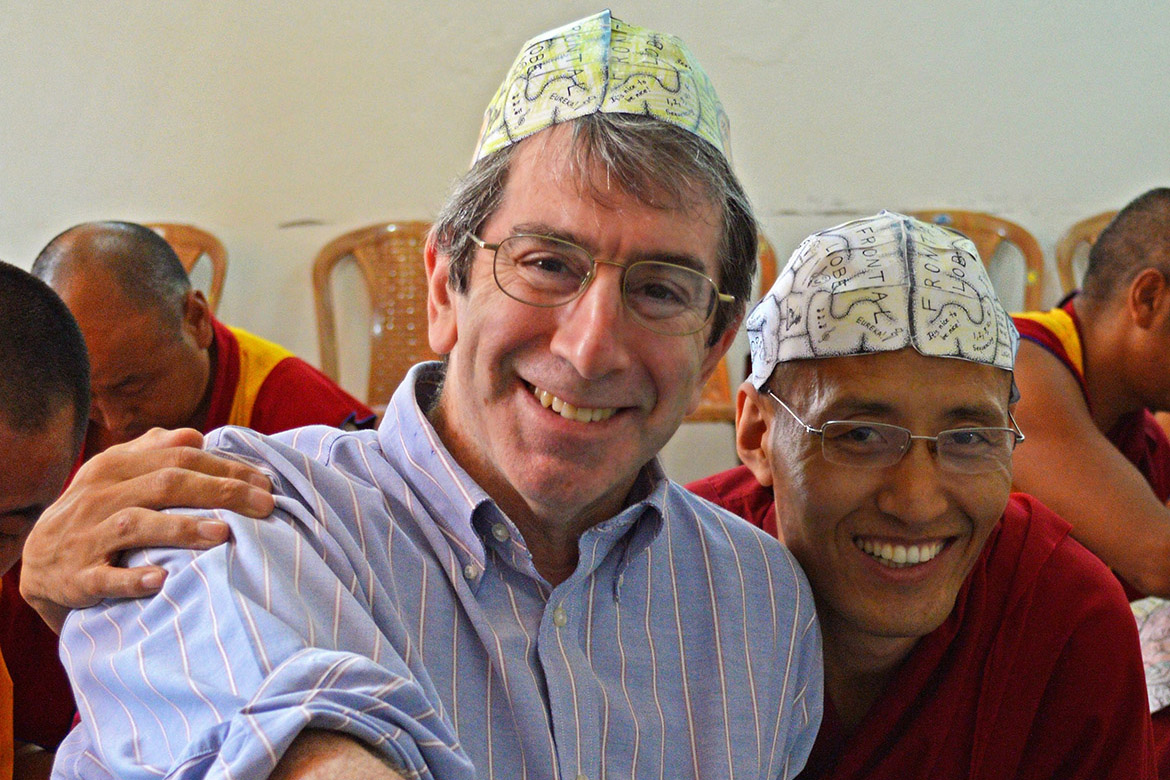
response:
M532 306L563 306L585 292L597 267L621 269L621 301L638 324L655 333L688 336L707 326L718 304L734 296L720 292L703 274L658 261L622 265L597 260L574 243L543 235L517 234L488 243L470 234L481 249L495 253L493 274L503 292Z

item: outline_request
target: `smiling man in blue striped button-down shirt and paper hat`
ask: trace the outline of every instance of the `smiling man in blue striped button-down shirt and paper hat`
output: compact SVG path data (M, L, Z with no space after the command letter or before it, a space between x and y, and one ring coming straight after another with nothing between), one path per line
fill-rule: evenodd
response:
M727 138L673 36L604 12L529 41L427 241L445 359L377 433L213 434L263 464L274 517L221 512L226 545L139 552L125 573L164 570L160 595L70 617L82 723L58 773L799 773L821 704L808 584L655 460L751 287ZM115 456L142 468L111 453L90 485ZM190 476L165 505L222 501ZM44 540L70 538L78 495L99 501L67 493Z

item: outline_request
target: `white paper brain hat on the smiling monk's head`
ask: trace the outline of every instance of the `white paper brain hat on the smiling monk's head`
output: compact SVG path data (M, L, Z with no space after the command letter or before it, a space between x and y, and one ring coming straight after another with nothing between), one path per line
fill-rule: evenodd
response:
M892 352L1012 371L1019 334L975 244L881 212L805 239L748 317L751 384L779 363Z

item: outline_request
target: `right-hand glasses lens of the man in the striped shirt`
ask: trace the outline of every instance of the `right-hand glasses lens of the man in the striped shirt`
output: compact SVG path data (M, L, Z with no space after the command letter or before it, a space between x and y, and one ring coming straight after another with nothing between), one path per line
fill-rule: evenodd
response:
M626 269L626 306L659 333L684 336L703 329L718 291L702 274L672 263L641 262Z

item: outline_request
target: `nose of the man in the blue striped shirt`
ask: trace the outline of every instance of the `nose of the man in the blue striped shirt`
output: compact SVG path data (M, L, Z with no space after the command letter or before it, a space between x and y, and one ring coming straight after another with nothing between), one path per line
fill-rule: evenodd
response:
M599 262L585 292L558 312L550 348L586 379L599 379L631 364L632 323L621 299L621 267Z

